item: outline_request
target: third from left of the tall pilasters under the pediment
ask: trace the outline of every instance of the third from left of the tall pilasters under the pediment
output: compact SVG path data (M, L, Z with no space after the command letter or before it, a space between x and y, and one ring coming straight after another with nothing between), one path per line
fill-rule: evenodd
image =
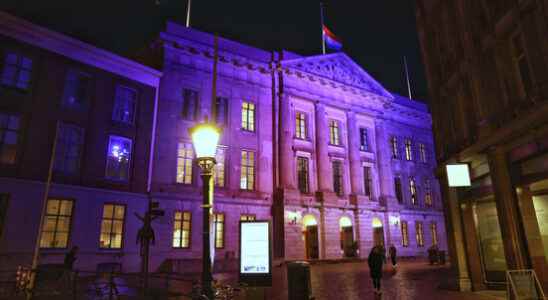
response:
M348 128L348 158L350 161L350 187L354 195L363 195L363 174L361 173L359 130L356 125L356 114L346 114Z

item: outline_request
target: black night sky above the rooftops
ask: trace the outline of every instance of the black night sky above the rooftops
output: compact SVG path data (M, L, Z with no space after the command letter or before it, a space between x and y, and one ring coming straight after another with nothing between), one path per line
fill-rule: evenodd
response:
M159 4L158 4L159 2ZM130 56L162 30L184 23L186 0L0 0L0 9ZM326 25L344 51L389 90L426 99L413 0L324 0ZM192 0L191 26L265 50L321 53L318 0Z

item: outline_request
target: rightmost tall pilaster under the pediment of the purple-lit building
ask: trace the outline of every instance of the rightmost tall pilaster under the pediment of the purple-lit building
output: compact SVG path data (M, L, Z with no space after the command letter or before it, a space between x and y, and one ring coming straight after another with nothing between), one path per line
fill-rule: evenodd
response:
M390 200L397 203L394 191L394 175L392 174L391 156L389 148L389 136L383 120L375 120L375 135L377 142L377 167L378 178L380 182L379 198L388 202Z

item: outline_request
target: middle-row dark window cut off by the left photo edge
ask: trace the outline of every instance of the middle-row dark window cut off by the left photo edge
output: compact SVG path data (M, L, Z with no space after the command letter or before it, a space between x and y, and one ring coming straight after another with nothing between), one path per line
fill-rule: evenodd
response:
M0 164L15 163L19 134L19 116L0 113Z

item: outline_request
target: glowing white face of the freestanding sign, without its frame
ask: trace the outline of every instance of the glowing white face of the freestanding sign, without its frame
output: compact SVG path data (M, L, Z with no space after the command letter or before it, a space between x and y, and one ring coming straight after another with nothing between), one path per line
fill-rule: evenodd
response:
M270 273L268 222L242 222L240 235L240 273Z

